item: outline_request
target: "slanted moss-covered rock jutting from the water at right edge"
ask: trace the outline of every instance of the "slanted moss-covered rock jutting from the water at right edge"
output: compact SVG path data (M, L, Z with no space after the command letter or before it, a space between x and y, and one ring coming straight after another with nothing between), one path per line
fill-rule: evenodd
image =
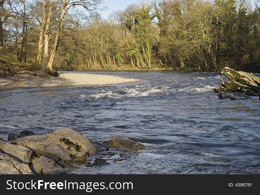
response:
M229 67L225 67L221 73L230 81L220 83L215 92L241 92L247 95L255 95L260 92L260 78L247 72L237 72Z

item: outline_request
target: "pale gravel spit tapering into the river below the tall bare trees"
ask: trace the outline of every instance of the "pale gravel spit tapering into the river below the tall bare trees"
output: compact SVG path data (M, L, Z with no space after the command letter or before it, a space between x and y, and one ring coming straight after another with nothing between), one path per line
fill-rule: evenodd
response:
M119 83L129 83L139 81L133 78L122 78L111 75L64 73L59 77L50 79L37 78L31 75L17 74L13 77L0 77L0 91L9 91L15 89L27 88L45 88L45 87L66 87L66 86L84 86L84 85L110 85Z

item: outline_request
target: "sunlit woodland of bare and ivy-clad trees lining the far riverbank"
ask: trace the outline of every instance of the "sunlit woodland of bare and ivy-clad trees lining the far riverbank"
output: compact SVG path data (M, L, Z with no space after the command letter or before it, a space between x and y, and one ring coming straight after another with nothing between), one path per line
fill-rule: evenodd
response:
M252 8L246 0L157 0L130 4L106 20L98 13L86 20L80 14L66 15L53 67L159 70L160 65L168 70L217 71L229 65L260 72L259 0L255 3ZM21 45L19 28L13 29L19 22L14 21L5 24L5 52L17 58ZM37 22L30 25L27 57L34 62L40 29ZM53 25L49 33L55 34L57 27ZM53 45L54 36L49 43Z

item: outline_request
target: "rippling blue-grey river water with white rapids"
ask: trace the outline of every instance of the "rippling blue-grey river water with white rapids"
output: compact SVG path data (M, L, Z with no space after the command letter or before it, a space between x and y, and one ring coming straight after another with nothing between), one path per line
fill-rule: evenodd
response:
M111 149L110 165L75 174L259 174L260 101L219 99L213 72L96 71L139 82L0 92L0 137L70 127L94 140L120 135L146 146ZM259 76L259 74L256 74ZM6 132L4 132L6 131ZM127 157L115 159L119 153Z

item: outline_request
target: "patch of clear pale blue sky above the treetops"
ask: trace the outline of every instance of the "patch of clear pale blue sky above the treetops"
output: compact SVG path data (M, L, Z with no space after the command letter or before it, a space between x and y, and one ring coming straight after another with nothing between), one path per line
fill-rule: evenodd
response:
M138 3L139 0L104 0L103 6L107 6L108 10L105 12L101 12L104 19L108 17L108 15L117 10L124 10L129 4Z

